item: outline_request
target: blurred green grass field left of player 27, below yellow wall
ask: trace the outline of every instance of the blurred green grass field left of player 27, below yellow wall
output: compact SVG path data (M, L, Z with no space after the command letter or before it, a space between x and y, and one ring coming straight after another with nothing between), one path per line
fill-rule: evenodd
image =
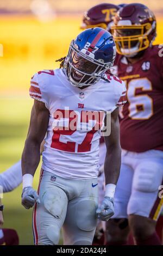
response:
M29 97L1 97L0 100L0 172L20 160L27 135L30 109L33 100ZM40 167L37 169L34 187L37 188ZM20 185L3 196L4 228L14 228L20 237L20 245L32 245L32 210L21 205Z

